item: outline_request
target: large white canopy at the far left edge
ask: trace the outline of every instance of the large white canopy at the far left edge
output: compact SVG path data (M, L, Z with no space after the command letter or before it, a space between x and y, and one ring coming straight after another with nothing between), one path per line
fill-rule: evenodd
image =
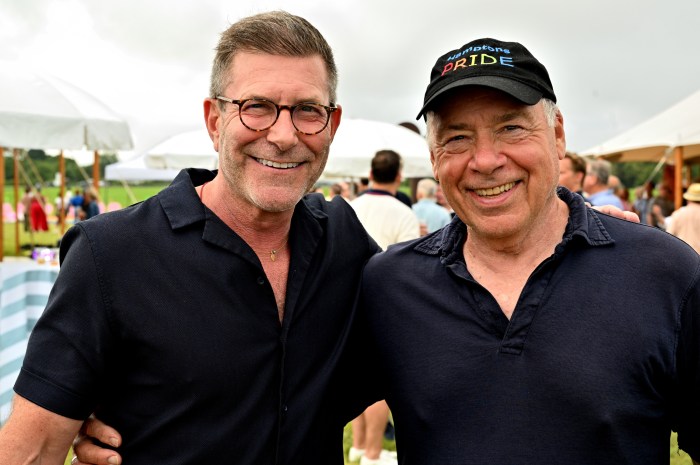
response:
M0 62L0 147L129 150L127 123L56 77Z

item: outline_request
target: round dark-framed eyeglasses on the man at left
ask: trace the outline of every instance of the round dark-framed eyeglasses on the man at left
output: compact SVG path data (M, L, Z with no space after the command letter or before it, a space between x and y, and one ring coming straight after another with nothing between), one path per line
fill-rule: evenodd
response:
M221 95L216 96L222 102L238 105L238 115L243 126L252 131L270 129L280 116L282 110L289 110L294 128L308 136L318 134L326 129L331 113L338 107L329 107L315 102L302 102L296 105L277 105L265 99L233 100Z

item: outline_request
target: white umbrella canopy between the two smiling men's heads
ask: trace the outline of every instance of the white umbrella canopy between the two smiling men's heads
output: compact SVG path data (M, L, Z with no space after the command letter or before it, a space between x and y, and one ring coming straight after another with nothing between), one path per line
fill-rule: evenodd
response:
M372 157L390 149L403 159L404 178L432 177L428 144L420 134L398 124L343 118L331 144L325 177L367 177Z

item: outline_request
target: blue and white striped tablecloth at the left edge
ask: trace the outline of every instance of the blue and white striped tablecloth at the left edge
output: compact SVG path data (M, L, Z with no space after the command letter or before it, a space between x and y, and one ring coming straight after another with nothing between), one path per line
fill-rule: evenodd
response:
M58 265L0 263L0 424L7 420L29 333L44 311Z

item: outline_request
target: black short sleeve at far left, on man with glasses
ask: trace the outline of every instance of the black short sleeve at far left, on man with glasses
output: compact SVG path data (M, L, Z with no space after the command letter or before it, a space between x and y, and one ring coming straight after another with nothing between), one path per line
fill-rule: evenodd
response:
M94 411L113 337L91 241L79 225L61 244L62 263L30 335L15 392L54 413Z

